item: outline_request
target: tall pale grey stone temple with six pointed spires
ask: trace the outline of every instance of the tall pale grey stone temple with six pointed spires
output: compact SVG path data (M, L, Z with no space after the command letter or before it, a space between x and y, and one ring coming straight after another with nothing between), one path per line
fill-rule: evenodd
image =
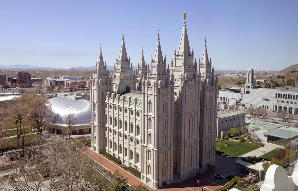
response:
M133 70L124 35L114 70L102 57L90 80L91 149L106 151L160 188L215 165L217 77L206 41L198 61L183 21L178 51L170 64L158 34L150 66Z

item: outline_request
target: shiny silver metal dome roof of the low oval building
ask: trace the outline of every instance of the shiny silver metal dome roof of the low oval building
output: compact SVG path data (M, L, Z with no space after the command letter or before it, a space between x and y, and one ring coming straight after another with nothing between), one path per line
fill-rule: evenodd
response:
M48 100L52 107L52 115L56 115L58 126L67 126L65 118L69 113L75 117L75 126L90 125L91 109L87 99L72 99L67 96L58 96ZM52 123L53 124L53 123Z

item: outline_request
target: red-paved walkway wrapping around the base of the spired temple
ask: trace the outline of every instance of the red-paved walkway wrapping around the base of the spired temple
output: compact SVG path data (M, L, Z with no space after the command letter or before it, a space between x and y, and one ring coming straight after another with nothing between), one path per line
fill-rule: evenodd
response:
M127 177L127 182L130 185L139 185L142 184L146 186L149 191L153 191L151 187L147 184L143 183L140 179L136 178L135 176L129 174L127 171L124 171L120 166L115 165L105 157L99 155L98 153L94 152L90 149L90 147L82 148L83 151L94 160L100 162L102 166L108 169L111 172L115 172L118 170L121 175ZM158 191L183 191L183 190L200 190L203 188L206 191L213 191L215 189L223 187L225 184L228 183L227 179L219 180L214 178L214 174L222 173L224 177L228 175L236 175L243 179L249 179L246 175L236 172L236 164L234 163L235 159L226 157L216 153L216 165L208 168L204 173L201 173L200 176L193 176L187 180L184 180L181 183L173 183L164 188L157 189ZM200 180L200 184L196 185L195 182Z

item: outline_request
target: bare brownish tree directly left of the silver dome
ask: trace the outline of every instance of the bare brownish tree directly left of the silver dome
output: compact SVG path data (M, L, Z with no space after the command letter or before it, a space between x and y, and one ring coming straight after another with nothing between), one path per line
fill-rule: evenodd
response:
M51 117L51 106L46 99L37 96L35 96L29 104L30 124L37 130L37 133L42 136L44 123L49 121Z

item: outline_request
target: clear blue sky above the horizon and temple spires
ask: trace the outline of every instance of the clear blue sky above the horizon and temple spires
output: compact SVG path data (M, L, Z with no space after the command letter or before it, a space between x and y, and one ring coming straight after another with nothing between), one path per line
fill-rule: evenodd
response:
M214 69L280 70L298 63L298 1L0 1L0 65L114 65L122 29L133 65L150 62L157 30L168 64L186 10L190 47L207 38Z

